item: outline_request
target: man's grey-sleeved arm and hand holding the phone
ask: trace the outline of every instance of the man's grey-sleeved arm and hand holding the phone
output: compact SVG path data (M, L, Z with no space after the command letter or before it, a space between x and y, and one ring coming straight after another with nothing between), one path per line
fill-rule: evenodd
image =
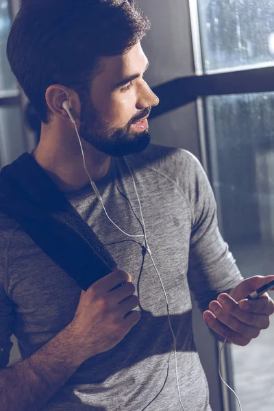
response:
M242 281L235 260L219 233L216 201L206 174L197 161L190 166L189 181L192 209L190 288L201 310L206 310L203 318L212 331L219 334L218 338L247 345L262 329L269 327L274 302L267 293L256 301L240 300L274 277L256 276Z

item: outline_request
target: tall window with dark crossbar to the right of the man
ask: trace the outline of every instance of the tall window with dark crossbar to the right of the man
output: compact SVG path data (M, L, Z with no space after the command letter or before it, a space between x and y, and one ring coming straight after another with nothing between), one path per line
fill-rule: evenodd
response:
M152 116L197 102L200 157L214 188L222 234L244 277L273 274L274 0L188 3L195 75L153 88L161 103ZM273 409L273 337L274 317L248 347L225 346L222 373L243 410ZM221 406L212 409L238 411L232 393L220 386ZM218 389L214 386L212 397Z

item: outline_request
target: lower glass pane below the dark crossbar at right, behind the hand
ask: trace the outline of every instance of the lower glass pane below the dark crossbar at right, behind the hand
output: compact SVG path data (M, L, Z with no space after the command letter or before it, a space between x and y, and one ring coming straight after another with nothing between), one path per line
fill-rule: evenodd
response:
M207 108L223 236L244 277L273 275L274 93L208 97ZM247 347L232 345L243 410L273 410L273 341L274 318Z

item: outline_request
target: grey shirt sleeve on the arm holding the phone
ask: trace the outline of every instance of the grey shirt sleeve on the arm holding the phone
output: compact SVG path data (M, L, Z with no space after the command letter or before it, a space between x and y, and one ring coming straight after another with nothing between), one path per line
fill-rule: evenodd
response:
M188 153L188 198L192 209L188 282L201 310L221 292L234 288L242 276L219 232L216 201L205 171Z

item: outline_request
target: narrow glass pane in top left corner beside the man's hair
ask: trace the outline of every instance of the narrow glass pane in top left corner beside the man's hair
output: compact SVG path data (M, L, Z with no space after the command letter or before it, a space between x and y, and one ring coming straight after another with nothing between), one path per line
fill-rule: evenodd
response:
M5 53L11 23L8 0L0 0L0 91L17 88Z

